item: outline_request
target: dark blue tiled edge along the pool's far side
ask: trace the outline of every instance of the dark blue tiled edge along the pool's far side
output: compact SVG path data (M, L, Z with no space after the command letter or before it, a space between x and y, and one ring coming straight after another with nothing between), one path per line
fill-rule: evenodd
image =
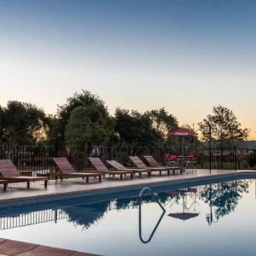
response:
M96 188L88 190L74 190L68 192L58 192L48 195L28 195L23 197L15 197L9 199L0 200L0 208L3 207L14 207L14 206L23 206L23 205L32 205L37 203L45 203L51 201L61 201L66 199L78 198L78 197L90 197L93 195L108 195L127 192L131 190L143 189L144 187L150 187L151 189L163 186L193 186L201 185L204 183L216 183L224 182L234 179L246 179L246 178L255 178L256 171L237 171L231 173L223 174L208 174L202 177L183 177L176 180L164 180L164 181L150 181L148 183L141 184L122 184L115 187L109 188Z

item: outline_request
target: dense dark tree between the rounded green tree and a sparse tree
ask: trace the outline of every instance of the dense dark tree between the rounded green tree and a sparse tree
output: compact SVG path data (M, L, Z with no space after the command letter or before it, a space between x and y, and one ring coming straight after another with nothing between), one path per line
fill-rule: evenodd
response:
M117 108L115 123L115 131L121 142L139 147L159 146L163 142L147 113Z

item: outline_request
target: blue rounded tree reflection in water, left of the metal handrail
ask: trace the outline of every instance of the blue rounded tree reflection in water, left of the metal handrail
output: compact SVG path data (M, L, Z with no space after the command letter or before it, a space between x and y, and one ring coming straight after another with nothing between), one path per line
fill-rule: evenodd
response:
M89 229L90 225L95 224L103 218L108 211L109 201L99 202L93 205L80 205L76 207L64 208L68 215L68 221L76 225L81 225L83 229Z

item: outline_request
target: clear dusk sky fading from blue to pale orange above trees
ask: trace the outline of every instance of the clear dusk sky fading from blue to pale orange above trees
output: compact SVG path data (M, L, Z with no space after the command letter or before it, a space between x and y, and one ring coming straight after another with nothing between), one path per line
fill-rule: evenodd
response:
M218 104L256 139L256 1L0 0L0 105L75 91L197 124Z

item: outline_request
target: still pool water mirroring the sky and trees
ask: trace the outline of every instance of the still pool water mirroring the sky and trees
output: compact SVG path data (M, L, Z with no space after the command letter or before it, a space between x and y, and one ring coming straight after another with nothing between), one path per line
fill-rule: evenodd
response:
M164 189L164 190L163 190ZM0 237L102 255L255 255L253 179L0 211ZM139 218L141 210L141 218Z

